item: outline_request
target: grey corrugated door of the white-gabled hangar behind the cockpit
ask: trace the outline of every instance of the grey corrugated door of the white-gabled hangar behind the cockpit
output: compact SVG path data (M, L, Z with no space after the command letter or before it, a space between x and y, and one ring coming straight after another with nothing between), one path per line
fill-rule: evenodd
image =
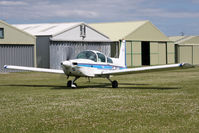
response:
M74 59L81 51L97 50L106 56L111 55L110 42L59 42L52 41L50 44L50 68L61 69L60 63Z

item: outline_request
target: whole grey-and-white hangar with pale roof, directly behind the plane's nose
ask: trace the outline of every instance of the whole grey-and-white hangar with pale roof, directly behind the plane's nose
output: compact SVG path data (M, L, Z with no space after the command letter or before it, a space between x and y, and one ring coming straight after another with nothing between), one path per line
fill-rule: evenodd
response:
M61 69L60 62L83 50L110 55L109 38L85 23L20 24L15 27L36 36L37 66Z

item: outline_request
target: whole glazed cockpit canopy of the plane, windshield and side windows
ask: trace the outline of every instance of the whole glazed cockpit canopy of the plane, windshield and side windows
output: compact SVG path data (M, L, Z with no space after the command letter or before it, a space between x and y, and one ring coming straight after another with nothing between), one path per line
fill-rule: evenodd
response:
M83 51L77 55L77 59L89 59L94 62L113 63L112 59L106 57L104 54L93 51Z

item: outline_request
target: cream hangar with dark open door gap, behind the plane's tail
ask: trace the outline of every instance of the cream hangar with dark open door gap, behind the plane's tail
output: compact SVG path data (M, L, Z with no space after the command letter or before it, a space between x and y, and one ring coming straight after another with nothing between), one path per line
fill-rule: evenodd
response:
M91 27L107 35L116 44L127 41L127 66L174 63L174 44L150 21L96 23ZM118 45L112 45L111 55L118 56Z

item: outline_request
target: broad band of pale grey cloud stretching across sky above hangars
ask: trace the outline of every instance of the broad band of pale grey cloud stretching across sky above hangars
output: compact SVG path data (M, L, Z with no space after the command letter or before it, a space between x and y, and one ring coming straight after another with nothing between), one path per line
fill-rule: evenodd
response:
M198 0L192 0L198 2ZM198 18L199 12L170 10L154 0L18 0L0 1L0 18L15 20L124 21L145 18ZM161 3L164 5L164 3Z

